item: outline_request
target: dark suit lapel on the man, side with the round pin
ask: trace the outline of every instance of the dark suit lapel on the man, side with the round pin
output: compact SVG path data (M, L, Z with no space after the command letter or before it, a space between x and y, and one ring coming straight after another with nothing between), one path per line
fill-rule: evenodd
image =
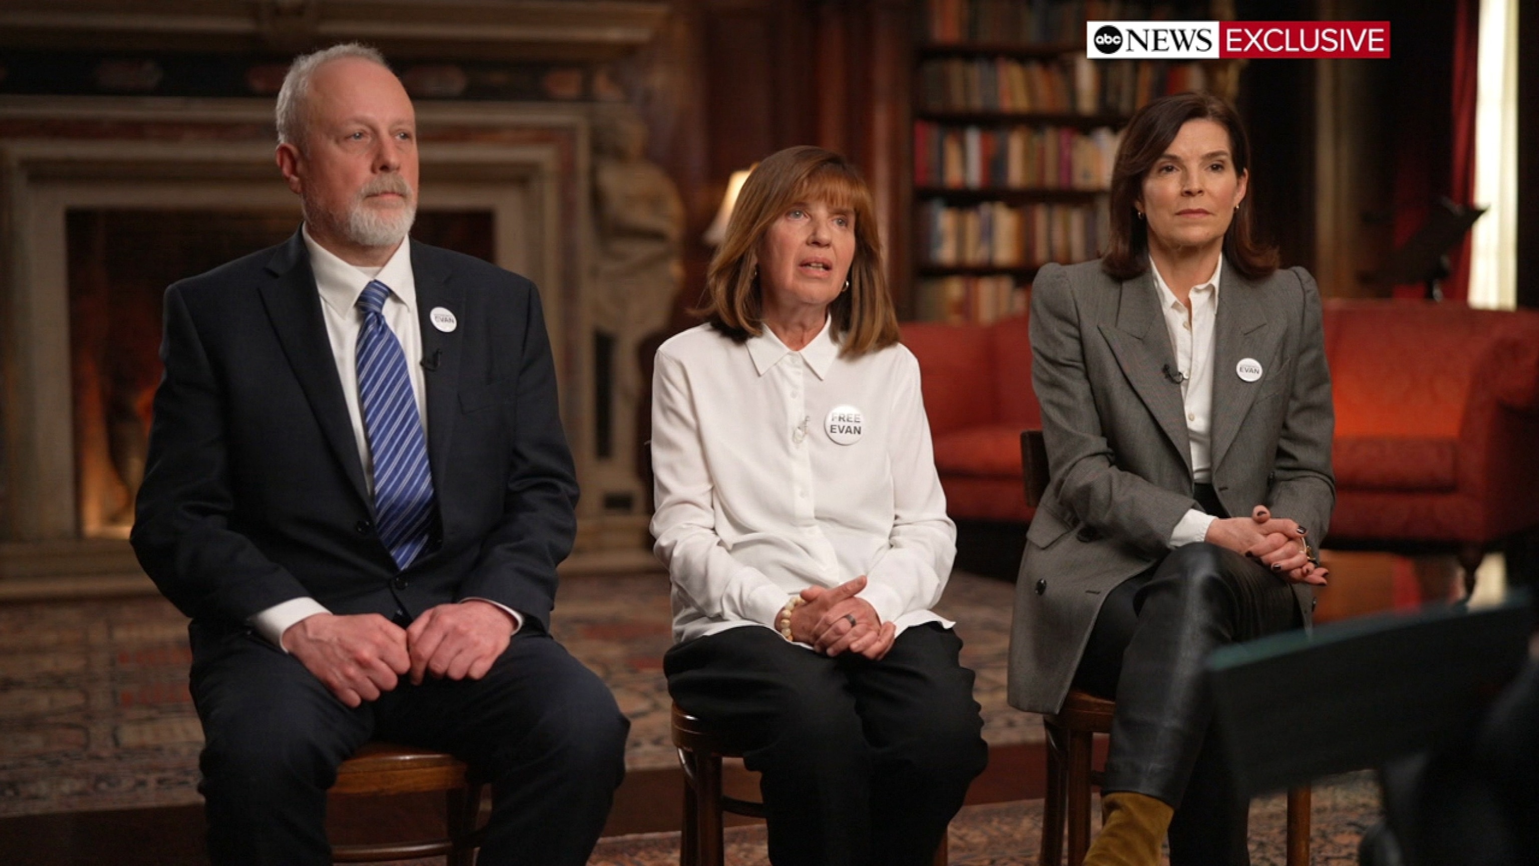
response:
M465 287L452 279L452 270L432 250L411 243L411 270L417 280L417 327L422 330L423 379L428 382L428 462L436 479L434 493L442 513L448 478L449 441L459 418L459 373L463 354L463 330L469 325L465 310ZM448 310L459 322L452 331L440 331L432 324L432 311Z

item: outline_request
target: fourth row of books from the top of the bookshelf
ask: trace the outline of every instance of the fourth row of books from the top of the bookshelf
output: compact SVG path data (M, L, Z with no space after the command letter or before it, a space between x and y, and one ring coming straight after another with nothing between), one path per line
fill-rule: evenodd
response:
M919 208L920 262L940 267L1025 268L1047 262L1083 262L1102 254L1110 205L982 202L948 206L931 199Z

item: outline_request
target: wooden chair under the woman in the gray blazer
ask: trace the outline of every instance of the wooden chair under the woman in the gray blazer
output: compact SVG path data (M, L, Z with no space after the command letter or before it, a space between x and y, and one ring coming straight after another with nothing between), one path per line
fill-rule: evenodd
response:
M1048 732L1048 792L1042 804L1042 854L1039 866L1059 866L1063 852L1065 806L1068 811L1068 866L1080 866L1090 849L1090 786L1100 787L1105 775L1091 767L1096 733L1111 733L1116 701L1071 689L1057 715L1042 717ZM1310 787L1288 792L1288 866L1310 863Z

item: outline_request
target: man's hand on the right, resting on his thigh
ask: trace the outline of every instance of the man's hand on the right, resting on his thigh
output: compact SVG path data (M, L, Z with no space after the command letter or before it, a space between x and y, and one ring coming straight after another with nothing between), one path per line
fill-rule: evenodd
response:
M489 601L429 607L406 629L411 647L411 683L423 673L449 680L480 680L508 649L516 623Z

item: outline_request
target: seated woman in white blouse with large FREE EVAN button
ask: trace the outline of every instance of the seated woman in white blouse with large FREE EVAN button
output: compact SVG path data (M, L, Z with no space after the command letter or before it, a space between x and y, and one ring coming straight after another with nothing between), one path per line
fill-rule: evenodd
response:
M865 182L797 146L743 183L706 324L657 350L668 689L760 770L770 858L930 863L988 749L919 364Z

